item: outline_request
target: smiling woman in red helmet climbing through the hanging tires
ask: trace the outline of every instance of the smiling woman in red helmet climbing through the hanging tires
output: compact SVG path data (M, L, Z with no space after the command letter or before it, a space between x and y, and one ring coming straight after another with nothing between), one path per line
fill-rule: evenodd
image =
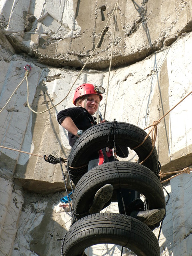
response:
M93 86L93 84L82 84L77 87L73 97L73 104L77 107L67 108L58 113L57 120L59 124L68 131L69 144L71 147L84 130L97 124L95 121L96 118L93 117L93 115L99 108L99 103L103 99L102 93L104 92L105 90L103 87L97 88L96 86ZM103 123L105 120L101 122ZM105 150L102 149L93 154L89 160L88 171L97 165L115 160L112 152L110 150L109 152L106 152ZM127 150L124 155L127 157L128 154L129 152ZM120 213L125 214L129 212L130 216L137 218L148 225L157 223L164 216L164 209L144 211L143 202L137 191L119 189L116 192ZM111 184L106 184L100 188L95 194L89 212L91 214L99 212L109 205L112 194L113 186Z

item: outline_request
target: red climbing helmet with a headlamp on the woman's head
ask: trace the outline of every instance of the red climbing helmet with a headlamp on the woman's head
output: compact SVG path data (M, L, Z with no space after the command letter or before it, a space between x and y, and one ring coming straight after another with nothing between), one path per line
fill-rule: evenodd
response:
M87 94L97 94L100 96L101 100L103 99L103 94L105 92L105 89L102 86L94 86L93 84L81 84L77 87L75 90L75 94L73 97L73 104L76 106L76 102L79 99L79 97Z

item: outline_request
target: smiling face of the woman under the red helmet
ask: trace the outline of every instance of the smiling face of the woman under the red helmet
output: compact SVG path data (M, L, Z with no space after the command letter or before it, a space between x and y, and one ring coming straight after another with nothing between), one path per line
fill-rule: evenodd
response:
M100 97L97 94L89 94L86 102L86 109L89 114L93 115L99 107ZM81 101L81 106L84 108L85 99Z

